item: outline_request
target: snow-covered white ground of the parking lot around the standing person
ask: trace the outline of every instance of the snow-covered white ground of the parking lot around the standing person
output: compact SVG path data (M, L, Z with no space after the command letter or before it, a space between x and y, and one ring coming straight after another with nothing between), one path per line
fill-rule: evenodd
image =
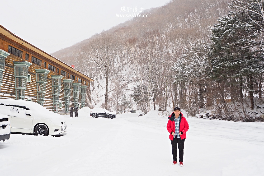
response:
M183 113L185 114L185 113ZM11 134L0 142L1 175L264 175L264 123L187 118L183 167L172 165L167 117L79 111L60 137Z

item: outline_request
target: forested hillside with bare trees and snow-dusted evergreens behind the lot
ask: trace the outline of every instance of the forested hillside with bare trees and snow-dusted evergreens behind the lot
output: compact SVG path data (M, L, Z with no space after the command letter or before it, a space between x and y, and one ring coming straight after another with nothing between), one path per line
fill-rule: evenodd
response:
M52 55L95 79L106 109L209 108L215 118L246 120L261 98L263 19L262 4L242 2L174 0Z

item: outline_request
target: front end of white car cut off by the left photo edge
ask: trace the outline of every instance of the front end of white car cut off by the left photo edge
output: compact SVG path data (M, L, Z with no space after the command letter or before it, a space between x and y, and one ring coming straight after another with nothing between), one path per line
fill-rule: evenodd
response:
M8 116L0 114L0 141L5 141L10 138L10 122Z

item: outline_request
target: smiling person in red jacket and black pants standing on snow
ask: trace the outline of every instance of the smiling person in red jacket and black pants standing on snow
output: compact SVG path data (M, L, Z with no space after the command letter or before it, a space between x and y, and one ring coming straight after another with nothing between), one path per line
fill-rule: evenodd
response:
M172 158L173 164L177 164L177 145L179 149L179 162L180 166L183 166L183 148L184 141L186 139L186 132L189 129L189 124L181 109L176 107L173 109L173 113L168 117L167 130L170 133L169 139L171 140L172 146Z

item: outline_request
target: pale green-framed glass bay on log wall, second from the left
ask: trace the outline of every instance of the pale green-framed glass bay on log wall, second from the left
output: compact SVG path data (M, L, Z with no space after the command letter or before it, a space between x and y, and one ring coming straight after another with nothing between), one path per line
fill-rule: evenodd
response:
M31 66L32 63L27 61L13 61L13 63L15 68L16 99L25 100L29 66Z

